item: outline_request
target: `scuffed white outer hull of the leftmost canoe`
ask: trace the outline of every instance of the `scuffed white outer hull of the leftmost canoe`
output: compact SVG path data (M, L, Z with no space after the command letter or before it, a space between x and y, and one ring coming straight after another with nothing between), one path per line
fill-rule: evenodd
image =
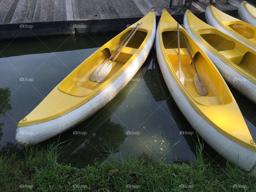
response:
M127 67L127 69L101 93L90 99L82 106L70 111L65 115L62 115L61 117L35 125L17 127L17 143L20 146L29 146L45 141L46 139L65 132L75 125L85 121L87 118L95 114L99 109L109 103L127 85L127 83L133 78L133 76L145 62L154 43L155 29L156 21L154 18L153 31L145 47L134 59L131 65Z

